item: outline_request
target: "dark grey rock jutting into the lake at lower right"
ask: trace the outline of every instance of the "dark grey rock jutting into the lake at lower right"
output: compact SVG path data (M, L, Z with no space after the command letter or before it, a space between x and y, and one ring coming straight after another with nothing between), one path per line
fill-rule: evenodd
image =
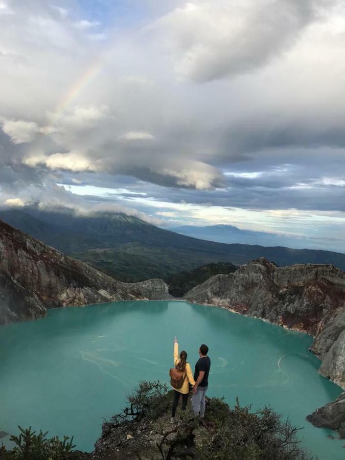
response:
M335 401L316 409L307 420L318 427L337 430L341 439L345 439L345 392Z

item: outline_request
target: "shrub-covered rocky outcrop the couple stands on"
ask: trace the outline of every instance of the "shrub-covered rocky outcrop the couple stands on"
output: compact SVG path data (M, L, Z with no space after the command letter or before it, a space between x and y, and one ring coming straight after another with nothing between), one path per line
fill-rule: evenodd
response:
M103 425L103 434L111 432L113 446L121 445L124 433L131 432L133 440L139 438L140 445L132 444L137 458L163 460L311 460L298 447L298 429L281 418L269 407L251 412L250 406L241 407L238 400L232 409L223 399L208 401L205 419L199 423L190 411L181 416L180 423L169 424L173 392L165 391L159 382L141 382L128 397L130 409L114 416ZM155 424L153 424L153 421ZM125 430L123 428L125 427ZM157 428L158 427L158 428ZM152 428L155 428L152 429ZM151 446L145 444L145 429L150 430ZM137 433L140 433L138 436ZM157 442L152 438L158 434ZM104 437L104 436L103 436ZM152 445L156 453L152 453ZM128 452L128 451L126 451Z

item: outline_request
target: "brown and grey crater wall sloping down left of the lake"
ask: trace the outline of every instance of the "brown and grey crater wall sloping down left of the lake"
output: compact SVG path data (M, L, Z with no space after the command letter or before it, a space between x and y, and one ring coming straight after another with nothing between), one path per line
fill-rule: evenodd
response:
M0 324L46 308L169 297L163 280L116 281L0 221Z

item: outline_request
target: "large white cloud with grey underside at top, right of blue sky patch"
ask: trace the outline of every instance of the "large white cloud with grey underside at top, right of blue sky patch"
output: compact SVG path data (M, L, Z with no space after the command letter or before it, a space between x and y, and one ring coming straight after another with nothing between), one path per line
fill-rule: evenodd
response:
M314 18L310 0L189 2L158 19L179 77L206 82L260 68Z

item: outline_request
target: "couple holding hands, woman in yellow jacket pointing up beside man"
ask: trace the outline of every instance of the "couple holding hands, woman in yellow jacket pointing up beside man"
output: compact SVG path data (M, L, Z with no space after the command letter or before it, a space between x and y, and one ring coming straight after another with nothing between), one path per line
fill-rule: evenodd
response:
M182 350L178 354L178 342L177 338L174 339L174 365L176 371L182 373L183 383L180 387L179 385L174 385L174 402L172 406L172 418L171 423L176 423L175 418L176 408L180 396L182 396L182 410L186 410L188 395L190 392L190 384L192 385L192 407L195 415L199 415L200 419L203 419L205 415L205 393L209 385L209 373L211 367L211 359L208 357L209 347L205 344L200 345L199 347L199 359L195 364L194 377L192 374L191 366L187 362L187 352Z

